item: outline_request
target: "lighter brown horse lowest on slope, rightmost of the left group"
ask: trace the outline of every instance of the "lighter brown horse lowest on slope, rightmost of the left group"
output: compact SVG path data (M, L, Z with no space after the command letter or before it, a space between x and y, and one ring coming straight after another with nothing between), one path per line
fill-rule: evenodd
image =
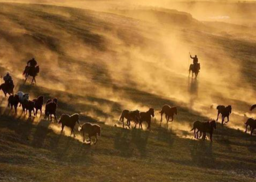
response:
M96 141L94 144L97 143L98 138L97 136L100 136L100 126L98 124L91 124L91 123L84 123L81 126L78 126L78 131L83 132L83 142L85 141L84 134L88 134L89 139L87 141L90 141L91 143L91 137L95 137Z

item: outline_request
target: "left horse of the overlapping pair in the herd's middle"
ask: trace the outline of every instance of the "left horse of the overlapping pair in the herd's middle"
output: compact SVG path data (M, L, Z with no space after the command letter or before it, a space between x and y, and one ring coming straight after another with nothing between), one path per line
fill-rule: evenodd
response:
M130 121L134 121L135 122L134 128L136 128L137 123L139 123L140 117L141 116L139 115L139 110L130 111L130 110L125 109L122 111L119 121L122 121L123 128L125 128L125 122L123 121L125 118L127 119L127 125L129 128L130 128Z

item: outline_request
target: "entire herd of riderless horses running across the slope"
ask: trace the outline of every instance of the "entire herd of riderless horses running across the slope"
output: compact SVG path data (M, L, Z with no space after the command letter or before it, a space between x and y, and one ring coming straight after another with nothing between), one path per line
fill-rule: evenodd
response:
M27 80L27 75L25 82ZM35 80L35 76L33 76L33 80ZM33 82L33 81L32 81ZM3 83L4 84L4 83ZM4 85L0 85L0 90L4 88ZM3 90L3 89L2 89ZM4 92L5 93L5 92ZM9 92L8 92L9 93ZM27 112L29 113L29 118L32 118L32 112L34 116L37 117L37 112L40 110L40 117L42 116L42 108L44 104L44 97L39 96L36 99L29 100L29 93L24 93L19 91L18 93L14 94L13 90L12 93L9 93L9 98L8 98L8 105L7 107L11 107L11 110L15 109L15 114L17 114L17 108L18 105L19 107L22 107L22 113L27 115ZM6 93L5 93L6 97ZM56 110L58 106L58 99L53 98L53 99L48 99L45 104L45 110L44 110L44 118L48 118L48 121L52 121L52 115L55 117L55 121L57 122L57 117L56 117ZM256 104L252 105L250 110L253 110L256 108ZM231 114L232 107L229 105L227 107L223 105L219 105L216 107L218 110L218 115L216 121L219 119L219 115L221 114L221 119L222 122L221 124L223 125L224 123L229 122L229 115ZM164 105L162 106L162 109L159 112L161 114L161 120L160 122L162 123L162 115L165 114L166 117L166 124L168 125L169 119L171 118L171 122L174 120L174 115L177 115L177 107L173 106L170 107L169 105ZM122 123L122 127L125 128L125 119L127 120L127 126L130 128L130 122L133 121L135 123L134 128L136 128L138 124L138 128L142 128L142 123L146 122L148 124L148 130L151 131L151 118L154 117L154 108L150 108L147 112L140 112L139 110L123 110L119 119L119 122ZM224 119L227 117L227 121L224 122ZM202 138L205 140L206 138L206 133L210 134L210 140L212 141L212 136L213 136L213 131L216 129L216 121L207 121L207 122L201 122L201 121L195 121L193 123L193 128L190 131L193 131L195 134L195 138ZM72 133L75 137L75 131L74 127L75 125L80 123L80 115L79 114L73 114L73 115L68 115L68 114L62 114L60 117L60 120L58 121L58 124L61 124L61 133L64 130L64 127L67 126L68 128L71 128L71 136ZM247 132L247 127L250 126L251 130L251 135L253 133L253 130L256 128L256 120L253 118L249 118L246 122L246 130ZM115 125L117 126L117 125ZM87 141L87 144L92 144L91 137L95 137L96 141L94 144L97 143L98 139L97 137L100 136L100 131L101 128L98 124L92 124L89 122L86 122L82 125L78 126L79 132L83 134L83 142ZM198 136L198 132L200 133L200 136ZM203 133L203 136L202 136ZM88 139L85 139L85 134L88 135Z

